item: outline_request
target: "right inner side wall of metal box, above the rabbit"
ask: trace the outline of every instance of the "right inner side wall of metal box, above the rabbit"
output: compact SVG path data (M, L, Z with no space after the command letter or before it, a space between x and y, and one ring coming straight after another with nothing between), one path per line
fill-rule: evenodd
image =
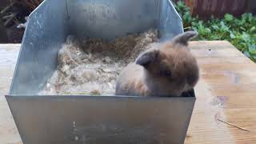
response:
M161 0L159 4L158 30L161 41L174 38L183 33L182 18L170 0Z

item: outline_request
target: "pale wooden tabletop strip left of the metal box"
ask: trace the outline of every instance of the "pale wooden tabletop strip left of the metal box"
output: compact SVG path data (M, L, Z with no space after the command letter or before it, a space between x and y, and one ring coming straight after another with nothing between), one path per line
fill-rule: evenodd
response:
M8 94L20 44L0 44L0 143L22 144L5 94Z

